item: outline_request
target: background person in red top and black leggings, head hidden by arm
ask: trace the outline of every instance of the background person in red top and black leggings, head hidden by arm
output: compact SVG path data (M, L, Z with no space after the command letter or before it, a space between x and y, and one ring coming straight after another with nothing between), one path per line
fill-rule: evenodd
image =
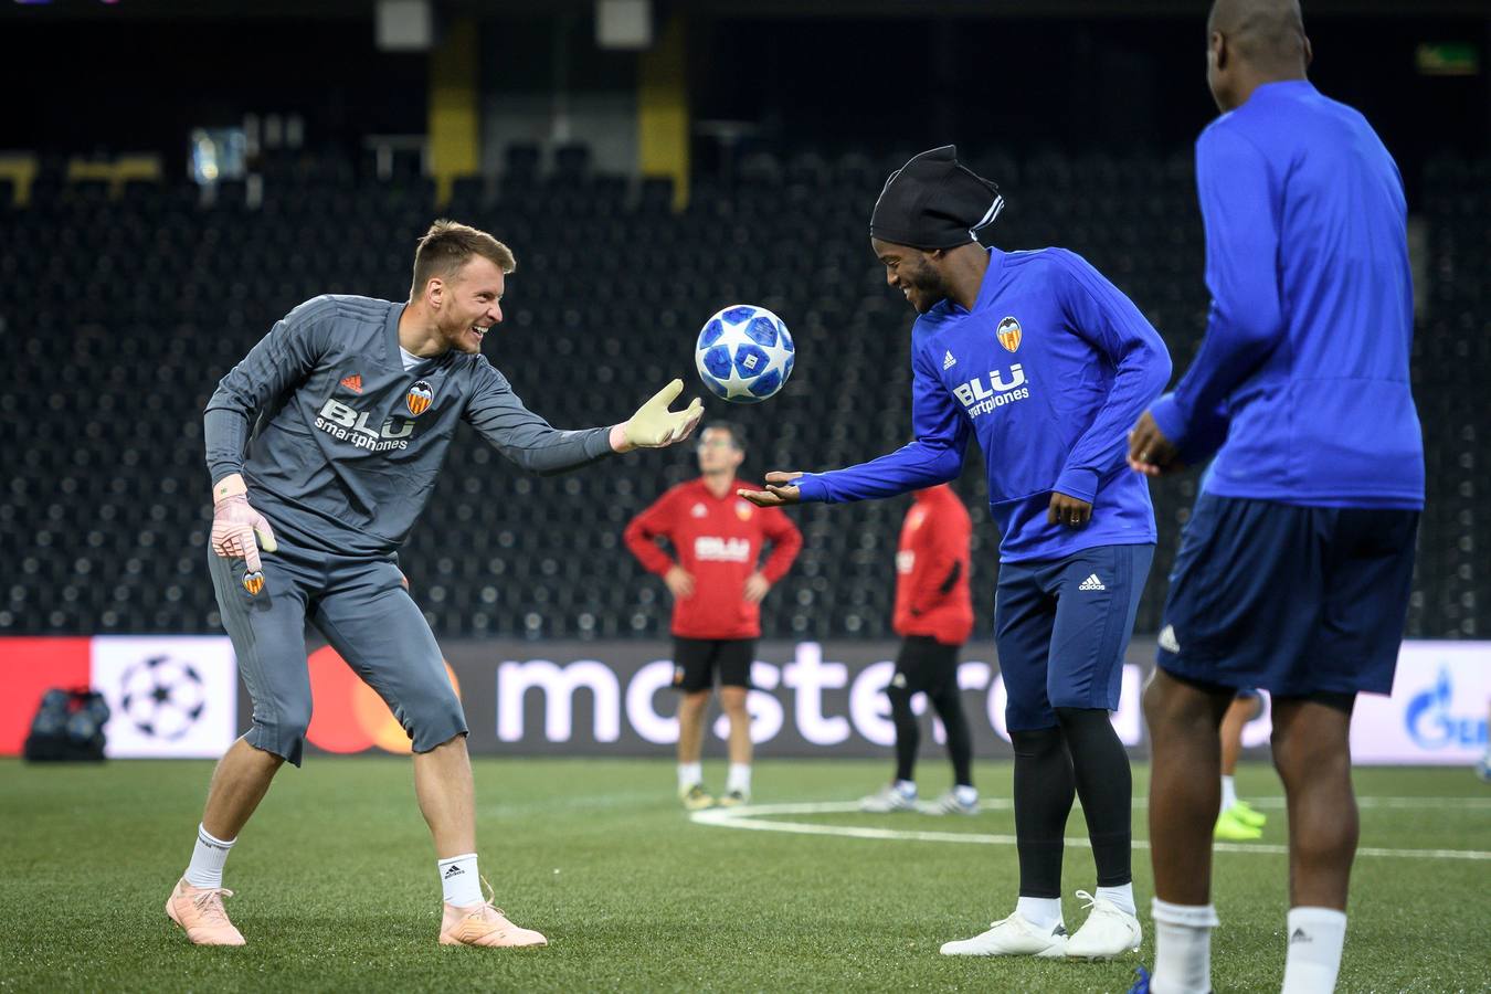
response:
M924 808L929 814L978 814L969 766L972 744L957 688L957 653L974 630L968 593L968 541L974 525L948 484L915 492L901 526L896 551L896 635L902 636L896 674L886 687L896 723L896 779L860 802L863 811L915 811L912 775L921 733L911 697L926 693L947 730L953 788Z

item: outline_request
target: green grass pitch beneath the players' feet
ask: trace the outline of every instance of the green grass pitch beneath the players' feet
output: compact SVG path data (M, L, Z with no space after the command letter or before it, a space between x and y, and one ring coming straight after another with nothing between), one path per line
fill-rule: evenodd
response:
M440 948L434 854L407 760L312 757L285 769L228 861L249 945L198 949L166 918L212 766L0 762L0 988L36 991L1126 991L1150 963L1148 852L1136 849L1145 922L1138 957L1112 963L948 958L947 939L1009 912L1015 851L1000 843L860 839L698 824L662 760L476 763L483 873L498 905L540 928L535 951ZM889 760L760 762L756 803L853 800ZM707 773L719 785L723 763ZM1144 796L1144 767L1136 767ZM975 770L994 805L1009 766ZM923 791L945 787L927 763ZM1241 791L1278 803L1264 766ZM1364 769L1361 855L1340 991L1491 990L1491 788L1464 769ZM1285 841L1278 806L1264 843ZM1145 838L1142 806L1136 839ZM1012 835L1008 806L977 818L792 814L772 821L898 832ZM1068 836L1081 836L1074 811ZM1457 849L1479 858L1412 857ZM1091 857L1068 849L1071 891ZM1217 857L1218 991L1276 991L1285 860Z

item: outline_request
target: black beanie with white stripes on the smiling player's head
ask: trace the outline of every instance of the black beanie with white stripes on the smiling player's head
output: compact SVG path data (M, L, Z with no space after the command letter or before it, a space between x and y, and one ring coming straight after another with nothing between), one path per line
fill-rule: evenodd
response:
M953 249L974 241L1005 198L990 180L957 161L957 148L912 156L886 180L869 218L869 234L914 249Z

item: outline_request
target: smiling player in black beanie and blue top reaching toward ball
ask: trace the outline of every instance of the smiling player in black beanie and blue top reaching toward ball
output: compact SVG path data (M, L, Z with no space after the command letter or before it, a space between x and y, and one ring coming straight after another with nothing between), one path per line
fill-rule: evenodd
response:
M886 182L871 246L920 314L911 332L915 441L848 469L772 472L763 507L860 501L954 480L977 435L1003 532L994 608L1015 748L1020 900L945 955L1111 957L1139 946L1129 867L1129 757L1109 723L1154 554L1148 484L1124 432L1170 377L1139 310L1065 249L984 249L997 188L945 146ZM1062 849L1074 794L1097 863L1093 914L1068 939Z

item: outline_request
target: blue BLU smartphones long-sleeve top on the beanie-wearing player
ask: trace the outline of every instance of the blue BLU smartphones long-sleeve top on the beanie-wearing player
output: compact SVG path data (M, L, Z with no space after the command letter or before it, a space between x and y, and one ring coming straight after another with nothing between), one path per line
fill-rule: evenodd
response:
M945 483L962 472L974 434L1002 562L1154 541L1150 487L1124 456L1129 429L1170 379L1170 356L1144 314L1081 256L990 249L972 311L944 300L917 317L911 368L915 441L801 477L802 501ZM1090 501L1091 523L1048 525L1053 490Z

